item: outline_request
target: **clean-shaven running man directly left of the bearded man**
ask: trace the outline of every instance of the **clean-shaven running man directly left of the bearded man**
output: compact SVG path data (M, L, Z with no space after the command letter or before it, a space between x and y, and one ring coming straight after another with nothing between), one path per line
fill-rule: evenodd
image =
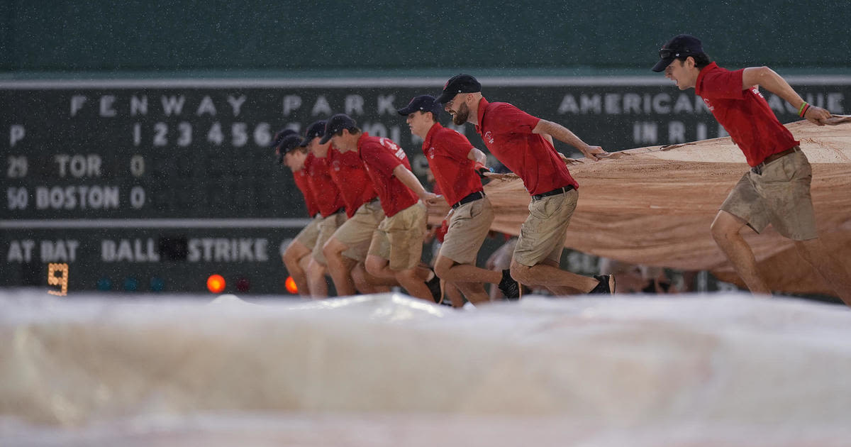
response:
M485 197L480 177L480 172L488 170L487 156L464 135L437 122L442 108L434 96L420 95L397 110L407 117L411 133L423 139L422 150L436 188L452 209L434 271L455 284L474 305L490 301L483 283L498 284L506 297L516 299L520 291L509 270L500 274L476 266L478 251L494 221L494 208Z

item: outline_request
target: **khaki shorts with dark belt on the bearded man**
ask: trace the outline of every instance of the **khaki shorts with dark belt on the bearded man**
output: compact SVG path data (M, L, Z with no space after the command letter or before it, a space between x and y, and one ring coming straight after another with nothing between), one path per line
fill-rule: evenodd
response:
M562 258L570 217L574 215L579 197L579 192L572 189L563 194L532 200L529 203L529 216L520 226L520 237L514 247L514 261L524 266L534 266L549 259L558 264Z

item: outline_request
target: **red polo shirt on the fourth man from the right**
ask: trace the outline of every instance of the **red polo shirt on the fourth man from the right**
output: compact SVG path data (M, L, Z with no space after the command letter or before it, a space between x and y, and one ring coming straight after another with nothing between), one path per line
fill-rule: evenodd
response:
M392 140L369 136L366 132L357 139L357 153L363 160L369 178L373 181L375 192L381 199L381 209L387 217L417 203L420 198L393 175L393 169L400 164L411 169L408 156Z

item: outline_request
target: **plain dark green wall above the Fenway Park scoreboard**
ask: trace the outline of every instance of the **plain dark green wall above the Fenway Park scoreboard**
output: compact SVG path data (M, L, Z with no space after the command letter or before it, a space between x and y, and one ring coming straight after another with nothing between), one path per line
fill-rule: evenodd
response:
M823 0L4 0L0 73L649 74L656 50L679 32L701 37L726 66L842 73L849 23L848 2Z

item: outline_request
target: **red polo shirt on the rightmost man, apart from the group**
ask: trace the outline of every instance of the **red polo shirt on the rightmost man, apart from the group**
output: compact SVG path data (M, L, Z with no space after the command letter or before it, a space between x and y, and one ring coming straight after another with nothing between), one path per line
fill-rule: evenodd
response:
M745 153L747 163L756 166L800 143L774 116L759 87L742 89L743 72L730 72L712 62L700 70L694 91Z

